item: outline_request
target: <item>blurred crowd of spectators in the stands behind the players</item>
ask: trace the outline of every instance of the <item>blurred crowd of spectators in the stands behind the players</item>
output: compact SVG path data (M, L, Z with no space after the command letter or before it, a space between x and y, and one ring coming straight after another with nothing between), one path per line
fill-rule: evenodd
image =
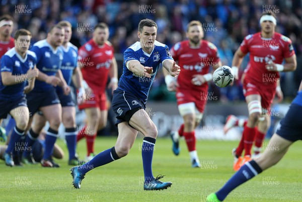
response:
M158 24L157 40L170 48L186 38L188 22L201 21L204 39L218 47L222 64L231 66L233 54L244 36L258 32L260 16L271 10L277 17L276 31L292 40L297 55L297 70L281 74L281 88L287 99L295 95L302 78L302 2L299 0L0 0L0 3L0 14L14 17L15 30L30 30L32 43L45 39L51 25L67 20L72 24L71 42L80 47L91 39L95 24L107 23L120 75L122 53L137 41L137 26L141 19L155 20ZM247 62L248 57L241 71ZM165 88L163 75L158 74L150 98L172 99ZM218 95L222 102L244 100L240 81L223 89L212 84L210 91Z

